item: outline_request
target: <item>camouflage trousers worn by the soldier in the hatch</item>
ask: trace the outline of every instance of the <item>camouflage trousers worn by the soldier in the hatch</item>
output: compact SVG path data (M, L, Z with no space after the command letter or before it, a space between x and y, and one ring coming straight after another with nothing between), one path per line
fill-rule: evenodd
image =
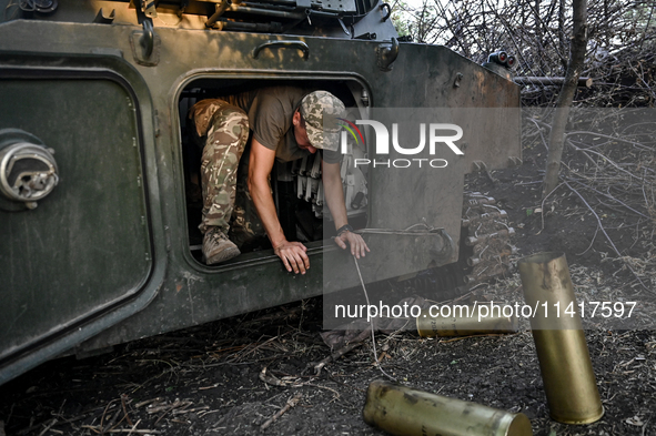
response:
M192 108L196 133L205 138L201 159L204 234L219 227L241 245L264 233L248 189L249 118L223 100L203 100Z

